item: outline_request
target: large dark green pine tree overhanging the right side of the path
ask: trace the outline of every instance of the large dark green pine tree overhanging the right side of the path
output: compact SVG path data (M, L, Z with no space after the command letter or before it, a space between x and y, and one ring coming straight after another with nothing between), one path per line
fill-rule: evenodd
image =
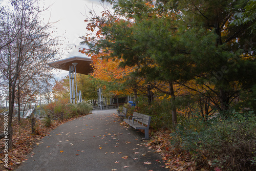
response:
M104 58L122 58L120 66L135 67L133 74L146 81L167 82L169 90L158 90L172 96L173 115L177 83L204 96L220 112L255 84L254 44L248 45L255 39L248 29L251 23L230 25L248 1L108 2L115 15L91 20L99 23L102 37L84 42L91 51L111 52Z

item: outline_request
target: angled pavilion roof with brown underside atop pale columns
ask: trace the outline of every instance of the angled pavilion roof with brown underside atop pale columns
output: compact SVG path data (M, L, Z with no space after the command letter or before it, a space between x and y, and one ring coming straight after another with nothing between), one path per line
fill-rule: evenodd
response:
M92 60L89 57L73 56L66 59L57 60L49 63L48 65L52 68L69 71L69 66L76 62L76 73L88 75L93 71L91 66Z

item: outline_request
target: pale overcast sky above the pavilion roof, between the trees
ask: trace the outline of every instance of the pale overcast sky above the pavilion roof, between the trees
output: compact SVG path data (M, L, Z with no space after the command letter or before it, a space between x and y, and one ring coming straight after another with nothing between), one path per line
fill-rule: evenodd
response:
M43 1L42 1L43 2ZM64 42L61 48L62 54L59 56L61 59L72 56L86 56L78 52L81 47L80 36L86 35L86 23L84 19L90 16L89 11L94 10L97 13L103 11L102 4L99 0L45 0L45 8L49 7L44 12L44 21L47 22L50 18L50 22L57 22L54 24L55 32L61 35ZM109 6L109 8L111 8ZM67 47L67 49L66 49ZM62 76L68 75L68 72L61 72L56 76L60 79Z

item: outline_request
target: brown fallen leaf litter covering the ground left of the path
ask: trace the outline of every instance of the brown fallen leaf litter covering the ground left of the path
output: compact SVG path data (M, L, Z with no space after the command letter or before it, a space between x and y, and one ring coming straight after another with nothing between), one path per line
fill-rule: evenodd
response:
M0 115L0 130L4 130L4 116ZM41 120L36 120L36 134L31 134L31 122L29 119L21 119L18 123L18 118L13 118L13 147L8 151L8 167L5 167L3 161L5 153L0 153L0 170L14 170L23 161L27 160L27 155L31 153L35 145L42 144L39 142L41 138L49 135L59 125L68 121L74 120L75 118L65 120L54 120L50 127L46 127ZM0 132L1 134L2 132ZM60 135L60 134L59 134ZM4 139L0 140L0 144L4 144ZM0 152L4 151L4 146L0 146Z

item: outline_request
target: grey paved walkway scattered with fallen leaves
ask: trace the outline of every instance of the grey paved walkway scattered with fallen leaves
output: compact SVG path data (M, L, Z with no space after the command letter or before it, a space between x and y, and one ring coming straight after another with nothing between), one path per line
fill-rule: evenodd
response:
M120 126L116 113L93 111L58 126L16 170L167 170L160 155L145 146L144 134Z

